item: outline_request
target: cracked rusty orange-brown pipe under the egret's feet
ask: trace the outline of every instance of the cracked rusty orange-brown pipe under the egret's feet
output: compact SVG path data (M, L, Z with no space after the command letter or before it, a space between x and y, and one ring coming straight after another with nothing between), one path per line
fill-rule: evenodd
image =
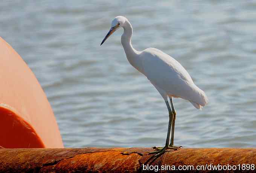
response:
M153 150L150 148L1 149L0 172L147 172L143 170L143 164L157 165L159 168L161 165L196 167L206 164L256 164L256 149L252 148L181 149L165 152L158 158L152 158L152 155L148 154L150 151ZM255 170L222 170L221 172L255 172Z

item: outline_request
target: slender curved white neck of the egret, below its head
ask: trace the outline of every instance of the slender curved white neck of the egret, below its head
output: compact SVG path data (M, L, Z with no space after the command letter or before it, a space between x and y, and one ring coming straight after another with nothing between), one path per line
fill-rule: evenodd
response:
M130 62L130 64L143 73L142 63L140 59L140 52L135 50L131 44L131 36L133 35L133 27L131 23L126 20L123 26L123 35L121 37L121 43L123 49L125 50L126 58Z

